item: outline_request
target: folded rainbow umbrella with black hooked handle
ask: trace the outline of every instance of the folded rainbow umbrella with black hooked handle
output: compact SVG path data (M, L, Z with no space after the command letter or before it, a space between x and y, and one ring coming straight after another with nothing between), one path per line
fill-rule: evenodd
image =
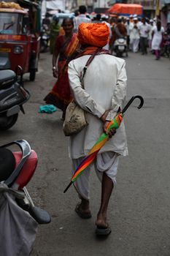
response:
M138 108L142 108L142 106L144 104L144 99L142 98L142 96L136 95L136 96L131 97L131 99L129 100L127 105L125 105L125 108L123 108L123 110L121 112L118 110L118 113L115 116L115 118L113 118L112 121L109 121L109 124L107 126L108 132L113 128L118 129L120 127L120 124L121 124L121 121L123 120L125 111L128 109L129 105L131 105L131 103L136 98L140 99L140 101L141 101ZM96 155L98 154L98 151L100 151L100 149L102 148L102 146L104 146L104 144L107 142L107 140L109 140L109 135L107 135L107 133L105 133L105 132L102 133L101 136L96 141L96 143L94 144L94 146L88 152L87 156L85 158L83 158L82 162L80 162L80 165L77 166L69 185L64 190L64 193L69 189L69 187L74 183L74 181L77 180L77 178L81 175L82 171L85 170L85 168L88 167L88 165L90 165L90 163L93 161L93 159L95 159Z

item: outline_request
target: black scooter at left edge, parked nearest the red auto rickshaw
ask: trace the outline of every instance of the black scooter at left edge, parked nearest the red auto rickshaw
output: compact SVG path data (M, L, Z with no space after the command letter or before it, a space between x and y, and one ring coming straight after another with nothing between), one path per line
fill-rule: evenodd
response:
M18 113L23 110L23 104L30 98L28 90L23 88L22 68L18 66L18 75L10 69L0 70L0 131L11 128L18 120Z

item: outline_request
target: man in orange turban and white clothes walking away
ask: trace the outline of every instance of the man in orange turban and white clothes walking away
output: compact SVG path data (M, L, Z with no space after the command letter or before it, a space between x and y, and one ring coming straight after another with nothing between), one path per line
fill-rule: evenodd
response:
M69 63L69 83L75 102L85 110L88 126L70 138L69 154L72 158L72 170L80 165L82 158L90 151L107 125L115 117L117 110L123 108L126 94L125 61L109 55L102 49L109 39L109 28L105 23L82 23L79 26L78 39L84 46L79 58ZM88 66L84 88L81 86L82 72L88 59L96 53ZM115 135L112 138L112 135ZM110 139L101 148L94 160L97 176L101 181L101 205L96 217L96 234L108 236L111 228L107 222L107 208L112 189L116 183L119 156L126 156L125 127L122 123L115 134L109 132ZM82 219L91 217L90 212L90 167L74 182L80 197L75 211Z

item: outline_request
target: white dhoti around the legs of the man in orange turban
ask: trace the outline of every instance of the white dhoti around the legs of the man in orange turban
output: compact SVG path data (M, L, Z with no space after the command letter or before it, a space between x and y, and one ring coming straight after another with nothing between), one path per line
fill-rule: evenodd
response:
M116 183L119 156L120 154L113 151L104 152L96 156L96 159L94 160L94 167L100 181L102 181L102 176L105 172L107 176L112 179L113 183ZM80 165L82 159L83 157L72 159L72 174L74 174L74 171L77 166ZM77 189L78 194L86 200L90 199L90 167L91 165L88 166L74 182L74 187Z

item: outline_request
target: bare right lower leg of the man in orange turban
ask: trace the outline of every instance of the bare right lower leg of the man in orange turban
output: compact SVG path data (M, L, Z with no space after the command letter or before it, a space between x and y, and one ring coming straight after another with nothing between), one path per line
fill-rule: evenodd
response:
M96 220L96 225L98 227L107 227L107 208L113 187L114 184L112 179L104 172L101 185L101 206Z

